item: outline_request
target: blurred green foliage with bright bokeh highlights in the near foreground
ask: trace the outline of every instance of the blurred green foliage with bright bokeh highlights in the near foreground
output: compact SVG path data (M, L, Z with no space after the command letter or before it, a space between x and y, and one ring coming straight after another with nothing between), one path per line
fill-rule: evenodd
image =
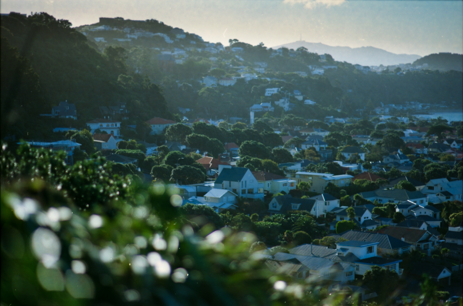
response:
M63 158L2 145L2 306L356 305L274 275L250 256L255 235L181 215L175 190Z

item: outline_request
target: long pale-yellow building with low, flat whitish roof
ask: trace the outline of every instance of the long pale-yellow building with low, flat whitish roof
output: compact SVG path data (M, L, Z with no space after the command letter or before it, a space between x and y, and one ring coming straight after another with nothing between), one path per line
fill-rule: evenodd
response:
M286 176L294 178L299 184L301 181L312 182L310 191L323 193L325 187L329 182L332 182L336 186L344 187L349 186L352 182L352 175L332 175L331 173L316 173L316 172L296 172L287 173Z

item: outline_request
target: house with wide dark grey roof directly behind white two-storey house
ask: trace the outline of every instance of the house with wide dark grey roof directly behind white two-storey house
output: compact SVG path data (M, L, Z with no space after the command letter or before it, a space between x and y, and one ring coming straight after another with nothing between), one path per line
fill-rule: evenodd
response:
M379 256L392 255L397 256L401 254L410 253L411 244L402 241L401 239L394 238L392 236L381 234L374 231L344 231L340 235L330 235L336 239L340 237L347 240L367 241L367 242L379 242L376 247L376 252ZM290 251L291 252L291 251Z

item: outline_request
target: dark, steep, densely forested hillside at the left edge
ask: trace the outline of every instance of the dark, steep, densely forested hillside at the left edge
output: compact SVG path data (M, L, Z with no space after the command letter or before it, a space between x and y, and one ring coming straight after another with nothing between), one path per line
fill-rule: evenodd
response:
M81 127L95 118L94 108L126 103L138 120L172 117L161 90L141 75L131 75L125 49L101 54L67 20L47 13L1 16L2 136L38 133L60 101L74 103Z

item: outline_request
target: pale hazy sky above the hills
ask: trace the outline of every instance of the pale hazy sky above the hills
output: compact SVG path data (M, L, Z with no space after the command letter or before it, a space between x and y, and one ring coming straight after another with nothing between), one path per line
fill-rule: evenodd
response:
M228 45L300 39L394 53L463 53L463 1L407 0L0 0L2 13L47 12L74 26L99 17L157 19Z

